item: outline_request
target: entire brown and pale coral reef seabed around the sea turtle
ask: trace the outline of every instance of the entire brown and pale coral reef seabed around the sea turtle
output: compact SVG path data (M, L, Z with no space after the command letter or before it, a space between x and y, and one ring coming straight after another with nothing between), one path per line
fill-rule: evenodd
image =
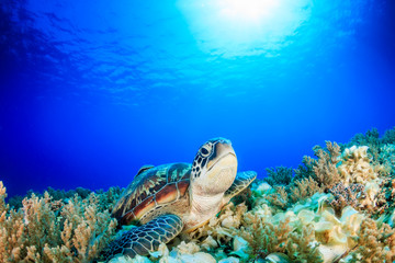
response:
M111 262L393 262L394 144L395 128L326 141L295 170L267 169L206 225ZM10 205L0 181L0 262L91 262L115 237L120 194L48 188Z

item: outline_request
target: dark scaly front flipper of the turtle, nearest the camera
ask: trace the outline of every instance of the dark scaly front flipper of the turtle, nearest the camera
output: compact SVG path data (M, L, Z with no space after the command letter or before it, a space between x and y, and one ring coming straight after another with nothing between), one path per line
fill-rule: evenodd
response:
M119 239L112 241L100 253L100 259L108 262L117 254L128 255L132 259L147 255L159 248L160 243L167 243L181 232L183 222L176 215L159 216L146 225L133 228L124 232Z

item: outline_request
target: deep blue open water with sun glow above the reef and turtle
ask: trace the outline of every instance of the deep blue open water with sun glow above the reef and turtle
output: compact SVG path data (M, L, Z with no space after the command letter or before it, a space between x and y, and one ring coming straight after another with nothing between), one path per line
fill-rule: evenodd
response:
M395 125L391 0L0 4L10 195L126 186L217 136L262 178L325 140Z

